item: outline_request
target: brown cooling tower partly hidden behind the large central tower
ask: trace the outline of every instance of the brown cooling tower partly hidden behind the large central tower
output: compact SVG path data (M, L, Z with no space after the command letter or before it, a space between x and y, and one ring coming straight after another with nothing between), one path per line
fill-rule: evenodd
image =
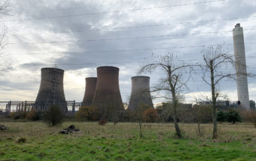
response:
M94 92L96 89L97 78L90 77L85 78L85 92L82 106L91 105L92 99L94 99Z

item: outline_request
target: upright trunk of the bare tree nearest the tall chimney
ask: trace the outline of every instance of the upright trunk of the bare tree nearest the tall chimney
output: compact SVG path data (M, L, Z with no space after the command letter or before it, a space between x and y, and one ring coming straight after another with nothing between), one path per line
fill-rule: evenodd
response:
M212 60L210 60L210 71L211 71L211 88L212 88L212 122L213 122L213 134L212 139L217 139L217 118L216 118L216 99L215 95L215 76L214 69L212 65Z

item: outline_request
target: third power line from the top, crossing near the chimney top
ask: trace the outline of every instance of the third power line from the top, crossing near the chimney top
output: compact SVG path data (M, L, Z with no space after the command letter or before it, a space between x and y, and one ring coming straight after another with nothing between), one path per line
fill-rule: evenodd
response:
M256 29L244 29L244 31L254 31ZM44 41L44 42L20 42L26 44L34 44L34 43L82 43L82 42L94 42L94 41L117 41L117 40L129 40L129 39L141 39L141 38L161 38L161 37L169 37L169 36L186 36L186 35L198 35L198 34L217 34L230 32L229 31L210 31L210 32L198 32L191 34L167 34L167 35L156 35L156 36L137 36L137 37L126 37L126 38L101 38L101 39L88 39L88 40L70 40L70 41ZM20 43L8 43L9 45L20 44Z

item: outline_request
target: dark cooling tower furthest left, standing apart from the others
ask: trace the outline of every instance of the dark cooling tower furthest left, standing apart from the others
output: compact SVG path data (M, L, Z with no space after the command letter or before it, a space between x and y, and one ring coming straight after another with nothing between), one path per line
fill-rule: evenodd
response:
M41 84L35 102L37 110L44 111L51 105L58 105L64 112L68 111L63 89L63 76L62 69L41 69Z

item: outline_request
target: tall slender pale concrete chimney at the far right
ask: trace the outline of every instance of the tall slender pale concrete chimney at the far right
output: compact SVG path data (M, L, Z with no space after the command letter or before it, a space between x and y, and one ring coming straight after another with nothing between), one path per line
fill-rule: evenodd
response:
M233 50L236 62L236 86L238 101L243 108L249 109L248 80L245 62L245 44L243 39L243 27L237 24L233 29Z

